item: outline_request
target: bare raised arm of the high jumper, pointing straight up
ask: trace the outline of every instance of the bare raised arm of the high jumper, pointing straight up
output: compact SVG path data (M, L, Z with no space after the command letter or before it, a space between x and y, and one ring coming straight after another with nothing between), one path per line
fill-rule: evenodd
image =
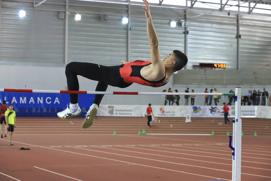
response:
M152 23L149 3L146 0L142 0L142 1L145 3L145 6L143 6L143 9L145 9L145 16L147 18L147 33L148 33L148 39L151 45L151 62L153 64L153 68L155 71L158 71L158 72L165 71L164 64L160 58L160 51L158 47L158 37L154 29L154 25Z

